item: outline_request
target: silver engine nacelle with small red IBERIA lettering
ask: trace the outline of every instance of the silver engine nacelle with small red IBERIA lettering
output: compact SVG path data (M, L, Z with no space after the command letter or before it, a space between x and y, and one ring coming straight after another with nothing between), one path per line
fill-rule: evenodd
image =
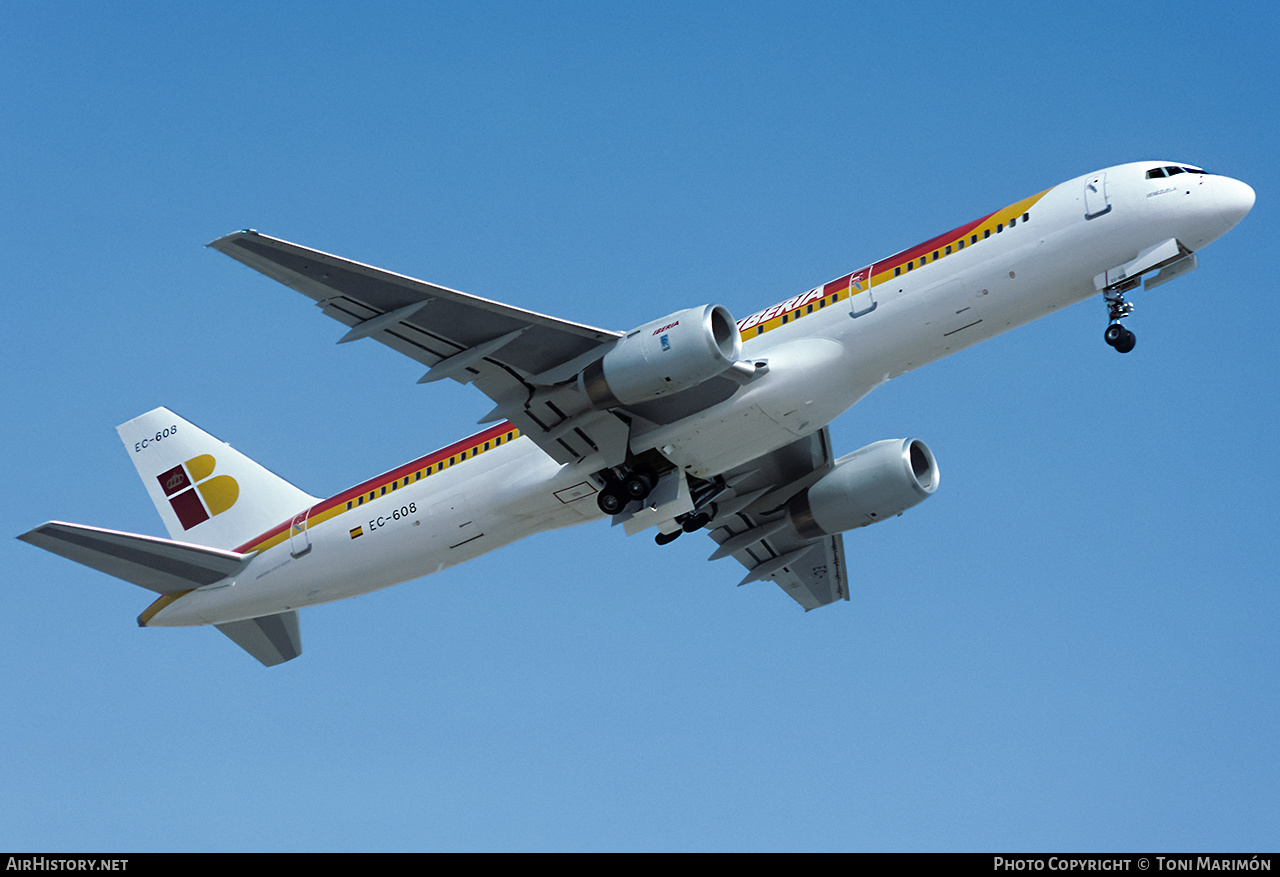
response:
M598 408L635 405L678 393L733 365L742 337L728 310L703 305L632 329L604 358L579 375L579 387Z

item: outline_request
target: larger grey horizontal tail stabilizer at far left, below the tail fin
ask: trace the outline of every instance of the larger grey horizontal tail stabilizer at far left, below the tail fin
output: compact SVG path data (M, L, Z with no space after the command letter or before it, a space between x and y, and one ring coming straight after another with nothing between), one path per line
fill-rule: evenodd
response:
M41 524L18 538L160 594L221 581L238 574L253 558L220 548L61 521Z

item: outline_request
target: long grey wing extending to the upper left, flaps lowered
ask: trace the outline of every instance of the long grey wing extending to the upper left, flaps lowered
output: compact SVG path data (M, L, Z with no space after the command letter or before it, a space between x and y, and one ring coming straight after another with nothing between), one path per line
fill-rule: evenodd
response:
M434 283L259 234L209 245L297 289L349 332L425 366L419 383L474 383L497 405L480 422L506 417L558 462L626 455L630 428L605 411L566 415L556 384L605 353L621 333L489 301ZM611 463L612 465L612 463Z

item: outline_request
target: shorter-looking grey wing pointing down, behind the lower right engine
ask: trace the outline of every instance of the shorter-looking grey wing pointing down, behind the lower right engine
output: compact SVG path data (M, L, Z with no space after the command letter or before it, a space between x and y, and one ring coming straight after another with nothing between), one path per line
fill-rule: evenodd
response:
M709 559L733 557L748 568L740 581L772 579L805 611L849 599L845 544L840 534L804 539L787 525L786 503L831 470L826 428L724 474L731 492L716 501L708 524L719 548Z

